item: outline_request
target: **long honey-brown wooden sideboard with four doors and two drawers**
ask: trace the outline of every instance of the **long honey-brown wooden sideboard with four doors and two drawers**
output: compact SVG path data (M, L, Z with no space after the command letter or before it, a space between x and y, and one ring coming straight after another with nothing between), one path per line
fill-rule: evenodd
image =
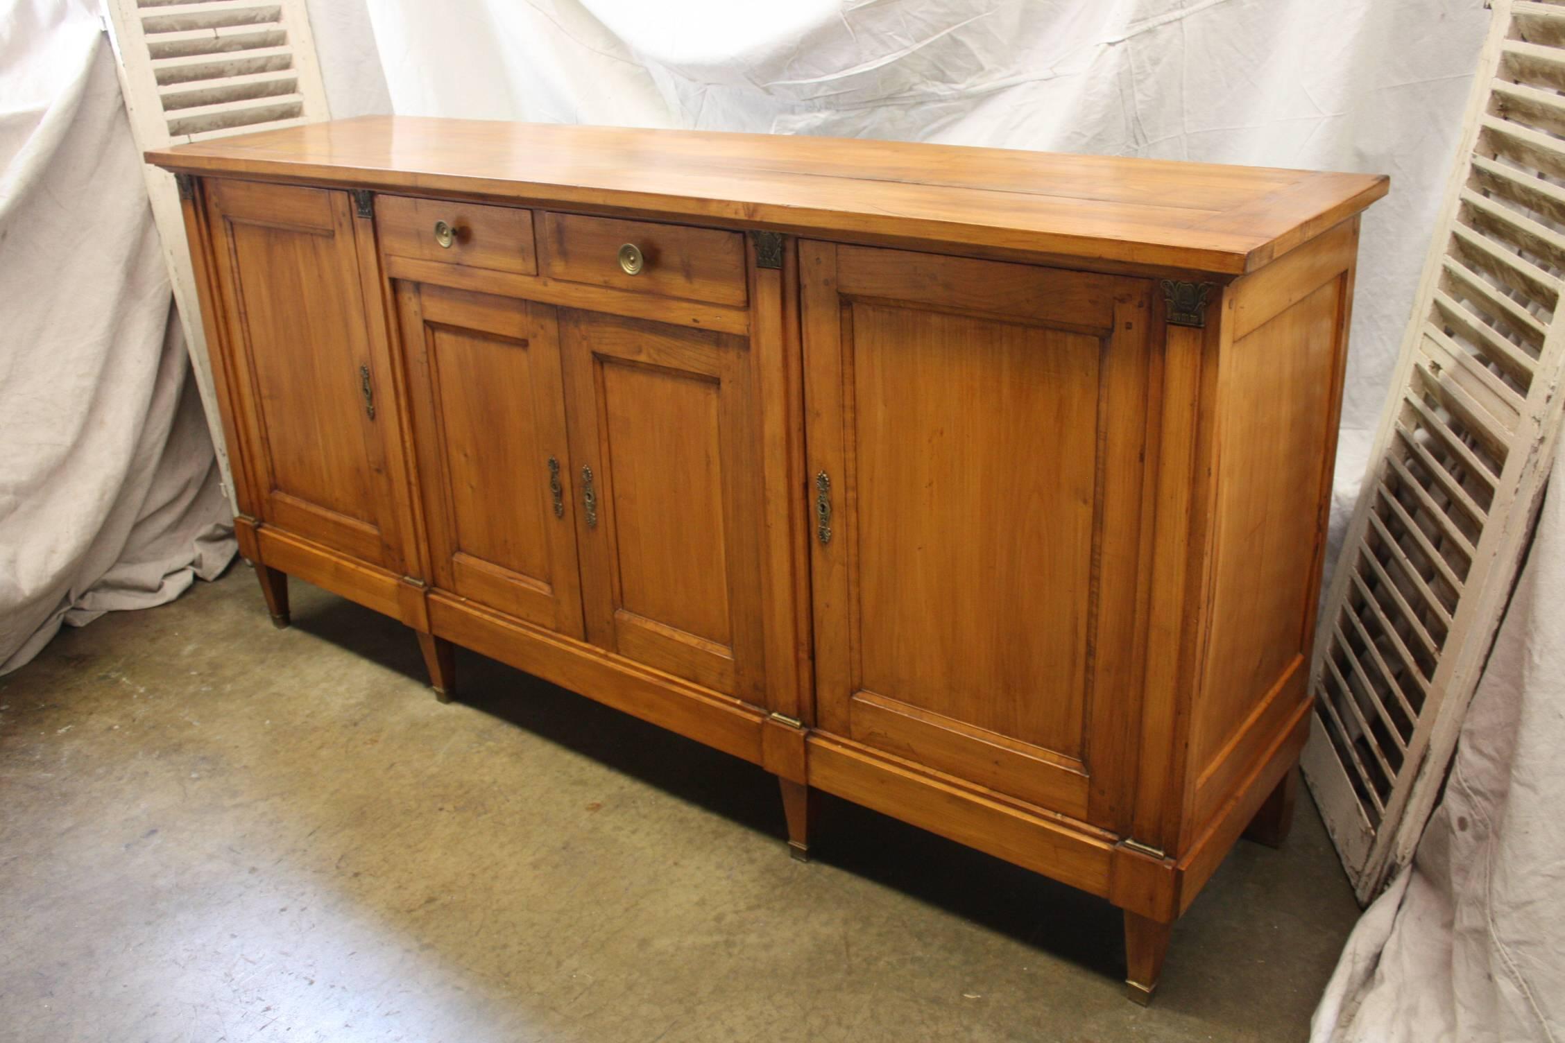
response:
M1387 178L376 117L180 175L239 547L1106 898L1146 1001L1307 733Z

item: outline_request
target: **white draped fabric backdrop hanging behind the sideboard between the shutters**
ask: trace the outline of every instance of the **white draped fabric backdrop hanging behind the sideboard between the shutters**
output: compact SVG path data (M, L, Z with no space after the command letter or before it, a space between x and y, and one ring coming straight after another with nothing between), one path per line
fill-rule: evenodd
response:
M408 116L1390 174L1360 247L1343 407L1358 441L1488 28L1480 0L377 0L369 14Z

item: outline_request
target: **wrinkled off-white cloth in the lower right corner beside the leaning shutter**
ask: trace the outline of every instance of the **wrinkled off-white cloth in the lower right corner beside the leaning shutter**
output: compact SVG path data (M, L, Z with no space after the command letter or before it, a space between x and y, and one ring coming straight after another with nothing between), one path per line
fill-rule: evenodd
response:
M1565 1038L1565 496L1538 532L1418 852L1354 927L1311 1043Z

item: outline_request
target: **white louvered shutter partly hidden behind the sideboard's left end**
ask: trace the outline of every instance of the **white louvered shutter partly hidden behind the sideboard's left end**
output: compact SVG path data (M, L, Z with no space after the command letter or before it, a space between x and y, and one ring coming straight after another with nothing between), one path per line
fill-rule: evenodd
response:
M142 150L329 119L304 0L105 0L105 14ZM238 510L178 189L153 166L146 178L224 491Z

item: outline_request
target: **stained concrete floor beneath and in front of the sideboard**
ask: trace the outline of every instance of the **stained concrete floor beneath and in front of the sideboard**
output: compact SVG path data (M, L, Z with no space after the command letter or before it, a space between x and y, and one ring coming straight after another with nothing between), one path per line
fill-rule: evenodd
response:
M0 1038L1302 1040L1357 916L1315 807L1150 1009L1105 902L243 565L0 679Z

